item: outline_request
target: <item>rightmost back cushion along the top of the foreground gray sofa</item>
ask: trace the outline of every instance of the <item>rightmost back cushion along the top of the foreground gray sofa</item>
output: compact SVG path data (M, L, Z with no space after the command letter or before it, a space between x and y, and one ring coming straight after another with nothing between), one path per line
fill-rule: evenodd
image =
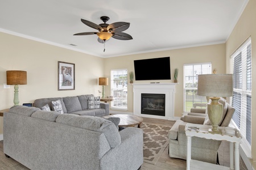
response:
M76 114L60 114L56 122L81 129L98 131L105 134L109 146L114 148L121 143L121 137L113 122L101 117L79 116Z

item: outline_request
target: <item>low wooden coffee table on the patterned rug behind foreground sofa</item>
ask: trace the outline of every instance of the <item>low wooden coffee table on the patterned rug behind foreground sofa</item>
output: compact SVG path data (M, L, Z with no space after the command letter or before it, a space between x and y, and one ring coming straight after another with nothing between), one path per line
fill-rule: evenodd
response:
M131 115L131 114L110 114L108 116L104 116L104 118L109 117L119 117L120 123L118 127L134 127L137 126L138 128L141 128L141 123L143 121L142 117Z

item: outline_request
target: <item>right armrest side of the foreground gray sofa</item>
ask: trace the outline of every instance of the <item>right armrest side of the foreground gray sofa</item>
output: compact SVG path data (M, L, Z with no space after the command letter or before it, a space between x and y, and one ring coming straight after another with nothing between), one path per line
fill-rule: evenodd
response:
M139 169L143 164L143 130L125 128L119 132L121 144L100 160L100 169Z

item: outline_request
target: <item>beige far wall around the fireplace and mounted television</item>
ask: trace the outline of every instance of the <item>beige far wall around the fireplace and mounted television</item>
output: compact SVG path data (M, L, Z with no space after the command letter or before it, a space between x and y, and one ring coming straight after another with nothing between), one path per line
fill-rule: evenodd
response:
M178 83L175 93L175 117L180 117L183 113L183 65L187 63L212 62L212 69L217 69L217 73L225 73L225 44L199 46L193 48L183 48L166 50L162 52L134 54L130 56L112 57L105 59L105 75L110 78L111 69L128 69L134 72L133 61L135 59L171 57L171 80L159 80L155 82L174 82L174 69L179 69ZM135 81L134 83L150 83L152 81ZM106 94L110 94L110 87L106 87ZM133 86L128 86L128 111L133 112Z

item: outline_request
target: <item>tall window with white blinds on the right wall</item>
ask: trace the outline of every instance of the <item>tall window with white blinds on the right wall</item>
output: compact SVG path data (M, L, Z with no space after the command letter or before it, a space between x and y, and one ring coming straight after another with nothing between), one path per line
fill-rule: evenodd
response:
M251 148L251 39L246 40L230 57L233 73L233 122Z

